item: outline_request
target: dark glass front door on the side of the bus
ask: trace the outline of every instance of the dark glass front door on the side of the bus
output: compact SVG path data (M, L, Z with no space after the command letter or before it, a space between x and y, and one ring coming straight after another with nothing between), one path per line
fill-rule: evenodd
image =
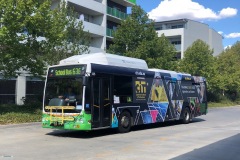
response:
M110 78L95 78L92 86L92 128L109 127L111 125Z

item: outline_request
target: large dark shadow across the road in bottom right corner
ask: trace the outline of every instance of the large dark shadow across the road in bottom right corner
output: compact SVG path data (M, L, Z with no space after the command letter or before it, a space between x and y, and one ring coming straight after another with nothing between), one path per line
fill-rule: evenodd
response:
M220 140L205 147L172 158L171 160L237 160L239 154L240 134Z

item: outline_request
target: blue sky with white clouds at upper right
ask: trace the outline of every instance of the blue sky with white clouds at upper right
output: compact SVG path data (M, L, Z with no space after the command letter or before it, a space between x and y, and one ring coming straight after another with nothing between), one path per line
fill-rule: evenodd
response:
M205 23L223 36L223 47L240 41L240 0L136 0L158 21L187 18Z

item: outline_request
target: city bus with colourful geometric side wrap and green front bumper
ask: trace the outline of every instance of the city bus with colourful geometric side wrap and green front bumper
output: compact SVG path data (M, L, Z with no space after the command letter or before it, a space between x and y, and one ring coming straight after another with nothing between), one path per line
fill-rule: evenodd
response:
M43 101L43 128L122 133L135 125L189 123L208 109L204 77L149 69L144 60L107 53L49 67Z

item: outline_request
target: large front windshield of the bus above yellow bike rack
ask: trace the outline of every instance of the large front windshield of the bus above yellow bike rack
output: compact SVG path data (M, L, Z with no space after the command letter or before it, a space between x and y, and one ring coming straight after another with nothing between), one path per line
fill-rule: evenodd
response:
M82 106L83 84L79 78L49 78L44 106Z

